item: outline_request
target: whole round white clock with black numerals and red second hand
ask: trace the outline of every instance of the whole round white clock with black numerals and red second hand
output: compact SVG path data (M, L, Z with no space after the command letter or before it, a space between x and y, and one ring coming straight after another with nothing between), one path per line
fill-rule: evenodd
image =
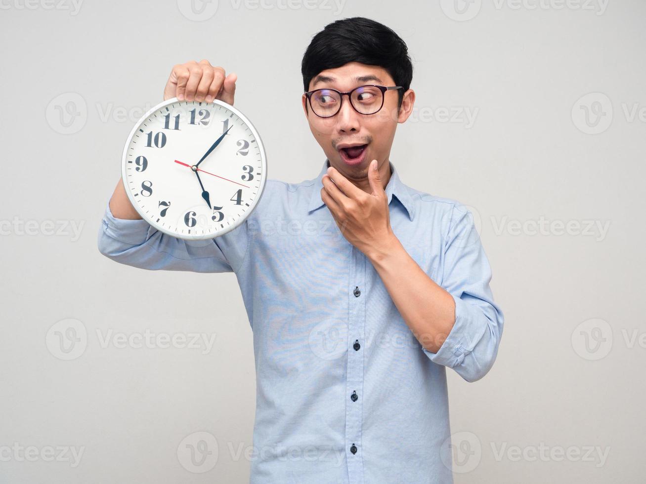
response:
M153 227L210 239L238 227L262 196L267 159L249 120L222 101L164 101L130 132L121 172Z

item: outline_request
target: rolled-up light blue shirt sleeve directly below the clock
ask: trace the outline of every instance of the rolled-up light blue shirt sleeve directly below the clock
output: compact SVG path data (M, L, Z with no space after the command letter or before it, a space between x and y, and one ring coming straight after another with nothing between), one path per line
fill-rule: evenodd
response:
M248 217L222 236L188 241L164 234L143 219L118 219L107 203L98 248L113 261L147 270L237 272L247 252L247 221Z

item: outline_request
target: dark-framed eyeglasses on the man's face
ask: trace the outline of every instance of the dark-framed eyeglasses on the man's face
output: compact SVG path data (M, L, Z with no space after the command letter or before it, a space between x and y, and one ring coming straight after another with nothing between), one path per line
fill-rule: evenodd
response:
M337 114L343 103L343 96L348 94L350 105L359 114L375 114L384 105L384 93L391 89L403 89L402 86L366 85L355 87L348 92L331 88L315 89L305 93L309 106L318 117L332 117Z

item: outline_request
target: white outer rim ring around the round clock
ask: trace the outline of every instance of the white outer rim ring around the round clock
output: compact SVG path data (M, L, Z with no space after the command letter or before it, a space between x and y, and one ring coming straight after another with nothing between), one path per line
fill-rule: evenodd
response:
M258 190L258 196L256 196L253 199L253 202L251 203L251 206L249 207L249 210L247 210L247 213L238 219L234 225L231 225L231 227L223 228L222 230L218 231L217 234L207 234L207 235L196 235L196 236L189 236L189 235L180 235L177 234L176 232L172 232L171 230L167 230L165 227L161 227L156 221L152 219L148 219L146 214L141 213L143 210L141 210L141 207L139 207L138 203L136 202L136 199L134 198L134 195L132 194L132 190L126 185L126 179L127 179L127 154L128 154L128 148L130 146L130 142L132 141L132 137L137 132L137 128L145 121L147 117L150 117L152 113L156 112L157 110L160 110L164 106L167 105L172 105L173 103L185 103L188 105L188 103L197 103L200 104L200 101L180 101L177 99L177 97L171 97L170 99L167 99L166 101L162 101L156 106L153 106L151 109L149 109L143 116L138 119L136 123L134 123L134 126L132 127L132 130L130 131L130 134L128 135L125 145L123 146L123 154L121 155L121 182L123 183L123 189L125 190L128 199L130 200L130 203L132 204L132 207L137 211L137 213L141 216L141 219L145 220L151 227L156 228L156 230L159 230L160 232L163 232L164 234L167 234L171 237L176 237L178 239L182 240L208 240L208 239L216 239L217 237L224 236L224 234L228 234L232 230L235 230L236 228L240 227L247 219L251 216L255 208L258 206L258 202L260 201L260 198L265 192L265 187L267 185L267 154L265 152L265 146L262 143L262 139L260 139L260 135L258 134L258 130L256 130L255 126L249 121L249 118L247 118L242 112L238 109L235 108L233 105L230 105L229 103L225 103L224 101L220 101L220 99L213 99L211 103L207 103L205 101L202 101L203 104L205 105L220 105L224 107L225 109L230 110L238 116L242 121L247 125L249 130L251 131L251 134L256 139L256 143L258 144L258 148L260 148L260 158L262 162L262 181L260 183L260 188Z

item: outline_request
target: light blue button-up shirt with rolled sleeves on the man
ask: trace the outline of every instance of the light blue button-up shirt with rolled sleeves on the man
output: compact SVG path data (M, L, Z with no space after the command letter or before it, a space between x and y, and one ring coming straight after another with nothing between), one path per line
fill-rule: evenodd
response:
M392 230L455 299L455 325L433 353L322 201L328 166L302 183L267 179L244 223L207 241L107 206L99 250L134 267L236 275L256 365L251 483L452 483L446 367L482 378L503 332L472 216L404 185L390 162Z

